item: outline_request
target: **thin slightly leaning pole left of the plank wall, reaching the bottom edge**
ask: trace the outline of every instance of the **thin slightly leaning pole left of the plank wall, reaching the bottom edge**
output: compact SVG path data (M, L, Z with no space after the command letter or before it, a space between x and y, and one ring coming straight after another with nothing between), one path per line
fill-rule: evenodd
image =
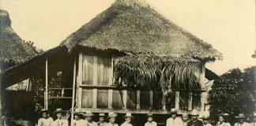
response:
M75 99L75 91L76 91L76 58L73 61L73 92L72 92L72 109L71 109L71 126L73 126L73 108L74 108L74 99Z

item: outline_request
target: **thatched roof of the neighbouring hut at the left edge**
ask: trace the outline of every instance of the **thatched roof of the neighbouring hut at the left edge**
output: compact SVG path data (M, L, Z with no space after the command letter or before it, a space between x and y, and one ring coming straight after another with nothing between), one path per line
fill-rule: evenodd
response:
M0 61L20 63L36 56L32 50L11 28L9 13L0 9Z

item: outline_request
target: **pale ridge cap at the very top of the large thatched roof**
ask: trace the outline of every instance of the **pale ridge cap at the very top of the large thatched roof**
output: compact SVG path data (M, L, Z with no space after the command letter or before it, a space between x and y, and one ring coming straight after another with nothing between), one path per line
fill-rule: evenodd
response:
M149 6L145 0L115 0L115 4L121 4L125 6Z

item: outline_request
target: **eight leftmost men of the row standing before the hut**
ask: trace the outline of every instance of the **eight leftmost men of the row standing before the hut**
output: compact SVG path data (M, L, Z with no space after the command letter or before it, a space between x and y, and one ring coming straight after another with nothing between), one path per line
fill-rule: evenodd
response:
M43 109L41 113L42 117L38 120L38 126L69 126L69 121L63 118L65 111L62 109L56 109L53 113L53 115L57 117L56 120L50 117L47 109ZM92 120L92 117L95 117L95 115L91 111L87 111L86 113L75 112L73 115L73 126L119 126L119 124L115 123L115 118L118 117L118 114L114 112L108 113L107 117L105 113L99 113L98 122ZM156 122L152 120L152 117L153 115L151 113L147 115L148 121L145 123L145 126L157 125ZM131 113L126 113L123 118L124 122L121 126L133 126L130 124L131 120L134 118Z

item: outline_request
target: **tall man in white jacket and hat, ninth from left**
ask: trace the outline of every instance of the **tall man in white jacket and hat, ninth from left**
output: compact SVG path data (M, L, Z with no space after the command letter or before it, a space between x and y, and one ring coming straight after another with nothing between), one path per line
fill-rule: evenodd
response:
M171 117L166 121L166 126L183 126L183 120L177 117L177 110L171 109Z

